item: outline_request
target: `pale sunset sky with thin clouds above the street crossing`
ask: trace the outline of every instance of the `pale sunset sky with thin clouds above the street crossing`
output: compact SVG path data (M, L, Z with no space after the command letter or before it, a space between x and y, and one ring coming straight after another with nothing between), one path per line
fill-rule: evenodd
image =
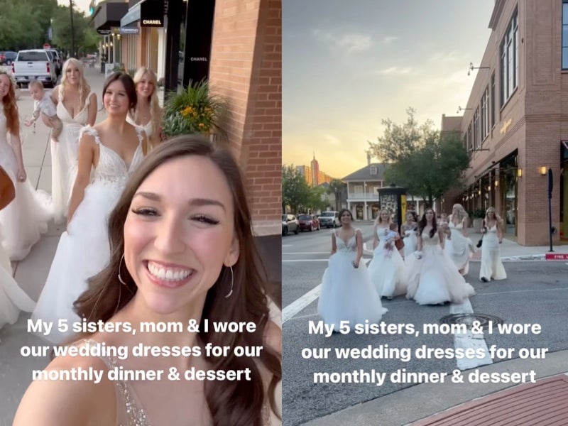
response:
M494 0L283 1L283 163L344 178L381 120L420 124L465 107ZM483 72L483 70L481 70ZM463 114L461 112L460 114ZM371 161L378 161L374 158Z

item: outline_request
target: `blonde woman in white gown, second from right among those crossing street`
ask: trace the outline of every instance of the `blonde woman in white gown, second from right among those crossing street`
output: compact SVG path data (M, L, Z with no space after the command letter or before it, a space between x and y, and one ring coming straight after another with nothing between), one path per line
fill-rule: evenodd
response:
M469 258L475 252L474 243L468 238L468 214L461 204L454 204L452 214L448 217L448 227L451 234L446 239L445 251L454 261L461 275L469 271Z

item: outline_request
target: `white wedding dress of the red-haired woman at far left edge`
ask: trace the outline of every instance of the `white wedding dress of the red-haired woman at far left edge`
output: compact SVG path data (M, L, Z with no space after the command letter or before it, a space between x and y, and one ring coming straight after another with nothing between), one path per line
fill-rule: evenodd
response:
M9 258L21 261L40 240L41 234L48 231L53 212L46 192L36 191L29 180L18 182L18 160L7 135L4 108L0 108L0 165L16 189L16 197L0 211L0 234Z

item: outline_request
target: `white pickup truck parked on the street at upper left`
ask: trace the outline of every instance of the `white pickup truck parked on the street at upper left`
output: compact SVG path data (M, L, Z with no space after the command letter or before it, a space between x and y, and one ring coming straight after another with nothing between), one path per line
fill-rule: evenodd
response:
M54 87L58 81L55 64L43 49L20 50L12 62L12 74L18 87L31 80L40 80L44 86Z

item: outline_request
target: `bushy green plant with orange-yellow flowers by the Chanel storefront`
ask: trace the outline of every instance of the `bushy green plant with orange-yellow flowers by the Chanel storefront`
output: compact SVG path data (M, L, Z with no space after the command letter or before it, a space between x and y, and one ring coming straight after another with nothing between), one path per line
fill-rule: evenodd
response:
M166 95L163 116L163 136L202 133L224 133L219 126L226 111L226 101L209 90L207 80L187 85L181 93Z

